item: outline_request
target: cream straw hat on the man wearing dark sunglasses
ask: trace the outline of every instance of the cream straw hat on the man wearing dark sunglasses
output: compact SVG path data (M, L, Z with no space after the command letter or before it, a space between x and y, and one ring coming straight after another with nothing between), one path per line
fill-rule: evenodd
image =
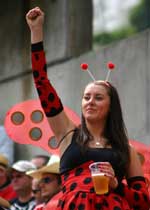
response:
M43 173L59 174L59 163L59 156L52 155L46 166L34 171L29 171L26 174L36 179L41 179Z

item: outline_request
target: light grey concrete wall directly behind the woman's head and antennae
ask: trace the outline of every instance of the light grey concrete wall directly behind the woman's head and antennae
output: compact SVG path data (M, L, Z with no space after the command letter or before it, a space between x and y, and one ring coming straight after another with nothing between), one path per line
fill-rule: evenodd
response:
M80 114L80 99L84 86L91 81L80 70L82 62L97 79L105 79L106 63L113 61L116 69L110 81L117 87L123 107L129 137L149 144L150 139L150 31L147 30L126 40L113 43L96 51L89 51L78 58L48 68L48 75L65 105ZM45 43L46 44L46 43ZM29 52L30 53L30 52ZM49 60L49 55L47 56ZM28 59L26 61L29 63ZM22 100L37 98L32 75L22 76L0 84L1 121L6 112ZM17 145L19 155L32 156L39 150Z

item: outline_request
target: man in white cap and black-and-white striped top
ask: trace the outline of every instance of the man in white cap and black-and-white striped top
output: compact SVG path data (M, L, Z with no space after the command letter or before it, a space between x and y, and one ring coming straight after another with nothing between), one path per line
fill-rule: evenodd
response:
M33 210L36 201L32 196L32 178L26 173L35 170L33 163L26 160L17 161L12 165L12 185L17 198L11 201L11 210Z

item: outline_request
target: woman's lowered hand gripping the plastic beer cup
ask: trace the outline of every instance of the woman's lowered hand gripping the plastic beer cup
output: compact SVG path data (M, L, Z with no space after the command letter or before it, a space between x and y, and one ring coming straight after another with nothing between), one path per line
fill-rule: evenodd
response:
M109 188L115 189L118 186L118 180L115 177L111 164L109 162L101 162L100 169L109 178Z

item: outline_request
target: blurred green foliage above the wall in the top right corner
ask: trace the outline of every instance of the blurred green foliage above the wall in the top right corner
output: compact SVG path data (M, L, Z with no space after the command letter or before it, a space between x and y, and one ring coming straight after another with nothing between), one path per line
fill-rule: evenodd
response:
M112 32L103 32L93 37L94 45L106 45L129 37L150 27L150 0L141 0L129 11L130 26Z

